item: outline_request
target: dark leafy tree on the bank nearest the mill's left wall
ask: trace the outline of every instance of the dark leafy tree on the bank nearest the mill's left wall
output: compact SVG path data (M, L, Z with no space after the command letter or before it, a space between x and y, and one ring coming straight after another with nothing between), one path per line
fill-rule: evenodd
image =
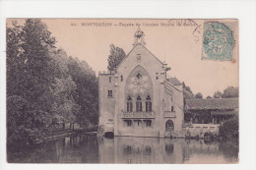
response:
M77 85L74 100L78 105L76 111L77 123L83 127L97 125L98 120L98 85L96 73L85 61L69 58L69 74Z

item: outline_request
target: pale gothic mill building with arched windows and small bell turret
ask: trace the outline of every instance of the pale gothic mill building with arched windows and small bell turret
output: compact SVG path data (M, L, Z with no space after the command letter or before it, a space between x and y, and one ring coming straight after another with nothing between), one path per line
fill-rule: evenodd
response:
M99 132L169 137L182 132L183 89L147 48L138 28L132 50L112 72L99 72Z

